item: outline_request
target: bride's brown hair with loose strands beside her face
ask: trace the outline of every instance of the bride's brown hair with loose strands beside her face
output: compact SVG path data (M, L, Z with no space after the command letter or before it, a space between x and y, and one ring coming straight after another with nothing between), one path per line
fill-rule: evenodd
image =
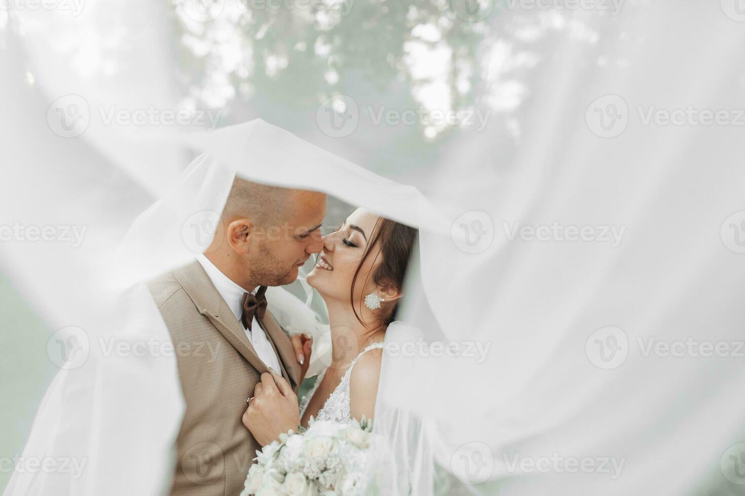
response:
M367 327L367 324L362 321L355 308L355 283L357 283L357 277L360 274L362 265L370 255L370 251L375 248L375 245L380 243L380 252L375 258L377 260L377 257L381 257L381 263L373 271L373 283L375 283L375 286L381 286L386 289L393 288L401 292L404 286L404 278L409 265L411 251L416 244L417 236L419 236L419 231L410 228L408 225L399 224L398 222L383 219L382 217L378 219L378 222L375 222L373 236L367 244L367 250L365 250L360 265L357 266L355 277L352 277L352 288L349 289L349 300L352 302L352 311L355 312L355 317L362 325ZM375 260L373 260L374 263ZM370 274L367 275L368 277L370 276ZM367 283L368 277L365 277L365 283ZM362 308L363 298L364 296L359 301L360 309ZM398 302L396 302L393 308L388 309L387 315L384 315L383 323L389 324L395 320L398 307Z

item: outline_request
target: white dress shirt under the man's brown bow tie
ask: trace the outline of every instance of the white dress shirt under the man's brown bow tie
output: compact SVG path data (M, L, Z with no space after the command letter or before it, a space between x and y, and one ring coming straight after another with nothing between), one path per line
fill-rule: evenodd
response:
M235 315L238 325L243 327L243 323L241 323L241 314L243 313L241 300L243 299L243 294L247 291L232 282L229 277L223 274L219 268L215 267L215 264L210 262L204 255L200 254L197 260L204 268L209 279L212 280L212 284L215 285L220 296L223 297L225 303L230 307L230 311ZM254 289L251 293L256 294L256 290L258 289ZM279 367L279 358L277 358L272 344L264 333L264 329L261 329L259 321L256 320L256 316L254 316L253 323L251 323L251 330L244 329L244 331L246 332L248 341L251 342L253 349L256 350L256 354L259 355L264 365L271 367L276 373L282 375L282 367Z

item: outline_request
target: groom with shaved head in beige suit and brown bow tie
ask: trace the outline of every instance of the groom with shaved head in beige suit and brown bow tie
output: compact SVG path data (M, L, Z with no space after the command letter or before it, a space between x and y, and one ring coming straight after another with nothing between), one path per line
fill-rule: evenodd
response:
M148 283L174 349L216 351L177 353L186 412L171 495L237 496L261 449L241 422L247 398L270 371L297 393L308 356L266 311L264 286L292 283L321 251L325 216L323 193L235 178L206 252ZM279 425L296 418L297 411L276 409Z

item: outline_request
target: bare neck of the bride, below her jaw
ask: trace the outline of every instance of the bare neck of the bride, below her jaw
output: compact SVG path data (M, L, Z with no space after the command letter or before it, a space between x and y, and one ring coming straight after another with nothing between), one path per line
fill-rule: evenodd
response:
M331 327L332 368L347 367L365 347L383 340L387 326L373 322L372 315L367 315L369 312L358 312L368 323L366 327L358 321L349 301L327 301L326 308Z

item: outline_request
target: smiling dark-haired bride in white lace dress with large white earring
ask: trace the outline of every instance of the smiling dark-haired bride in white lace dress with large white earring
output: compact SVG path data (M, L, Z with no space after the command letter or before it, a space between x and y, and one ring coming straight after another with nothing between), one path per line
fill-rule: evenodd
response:
M307 281L329 310L332 357L301 406L282 377L264 374L243 417L261 444L307 427L311 416L334 422L375 416L385 332L396 316L416 237L416 229L363 209L324 236ZM288 410L297 414L288 416Z

